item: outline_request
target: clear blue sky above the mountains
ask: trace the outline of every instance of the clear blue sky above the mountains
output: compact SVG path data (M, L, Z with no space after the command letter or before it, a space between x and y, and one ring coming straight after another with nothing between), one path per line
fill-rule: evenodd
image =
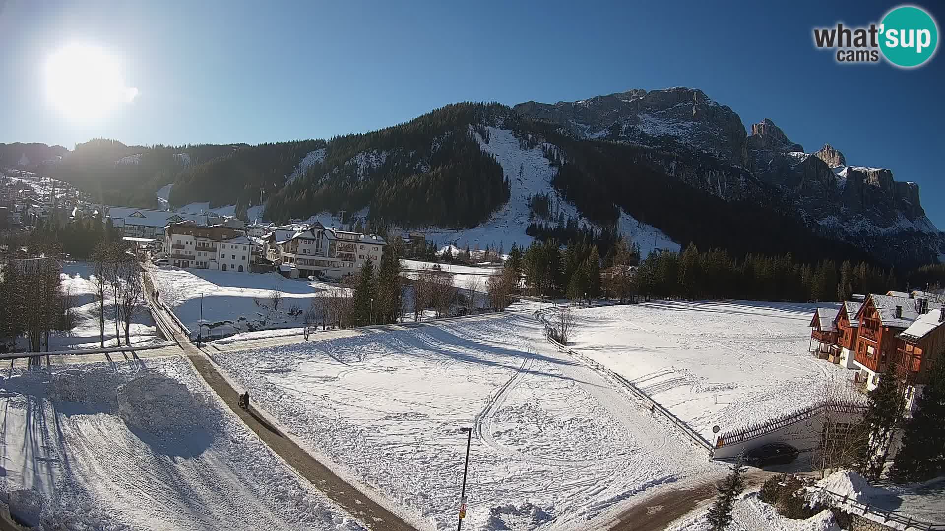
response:
M842 65L814 26L878 22L897 3L48 2L0 0L0 142L67 147L323 138L456 101L555 102L691 86L771 118L807 151L919 182L945 228L945 58ZM456 7L453 7L453 6ZM931 10L942 26L941 4ZM461 6L461 7L460 7ZM43 64L68 43L120 55L137 97L63 119Z

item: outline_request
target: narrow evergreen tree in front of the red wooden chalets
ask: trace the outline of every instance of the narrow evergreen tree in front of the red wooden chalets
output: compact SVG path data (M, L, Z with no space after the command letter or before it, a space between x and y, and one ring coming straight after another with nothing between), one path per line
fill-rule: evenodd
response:
M868 409L863 423L869 434L869 443L857 455L858 469L868 479L879 479L883 472L889 443L896 422L902 416L902 390L896 369L888 364L880 383L869 391Z

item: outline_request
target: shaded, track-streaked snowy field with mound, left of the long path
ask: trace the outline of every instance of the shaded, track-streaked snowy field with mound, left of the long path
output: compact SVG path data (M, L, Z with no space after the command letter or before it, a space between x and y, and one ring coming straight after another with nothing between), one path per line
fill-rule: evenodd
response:
M140 363L140 362L139 362ZM183 357L0 381L0 498L39 529L355 530Z

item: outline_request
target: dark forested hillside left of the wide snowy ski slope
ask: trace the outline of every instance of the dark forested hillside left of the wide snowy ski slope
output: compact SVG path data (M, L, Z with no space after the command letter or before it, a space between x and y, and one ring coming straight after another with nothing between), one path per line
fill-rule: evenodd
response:
M269 198L266 215L285 221L368 207L379 226L472 227L508 198L502 166L473 133L510 112L462 103L392 128L335 137L321 163Z

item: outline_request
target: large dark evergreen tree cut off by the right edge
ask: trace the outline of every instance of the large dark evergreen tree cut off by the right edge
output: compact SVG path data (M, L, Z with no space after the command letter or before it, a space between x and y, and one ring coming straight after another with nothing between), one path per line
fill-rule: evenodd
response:
M925 481L945 472L945 363L940 361L945 352L938 359L905 425L902 449L889 471L893 481Z

